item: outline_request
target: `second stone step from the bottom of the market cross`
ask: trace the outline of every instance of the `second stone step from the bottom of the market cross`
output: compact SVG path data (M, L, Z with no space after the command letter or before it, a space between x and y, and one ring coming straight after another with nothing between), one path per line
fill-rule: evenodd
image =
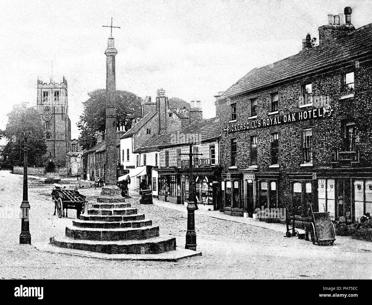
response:
M119 229L66 227L66 237L101 241L144 240L159 236L158 226L126 227Z

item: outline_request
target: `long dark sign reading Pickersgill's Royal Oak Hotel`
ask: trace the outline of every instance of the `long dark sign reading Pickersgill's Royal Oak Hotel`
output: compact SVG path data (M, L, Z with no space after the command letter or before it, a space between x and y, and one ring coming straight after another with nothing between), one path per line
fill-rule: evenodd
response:
M316 109L301 110L294 113L281 114L272 116L267 119L249 120L245 123L233 124L226 126L224 132L226 134L232 132L246 131L249 129L269 127L275 125L282 125L291 122L305 121L311 119L318 119L321 117L328 118L332 115L333 109L331 106L320 107Z

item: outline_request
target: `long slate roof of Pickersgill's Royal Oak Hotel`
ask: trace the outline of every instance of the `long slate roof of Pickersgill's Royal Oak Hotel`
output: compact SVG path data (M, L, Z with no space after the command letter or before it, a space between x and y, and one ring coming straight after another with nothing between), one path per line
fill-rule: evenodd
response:
M271 65L254 68L228 88L220 99L276 85L372 54L372 23L325 45L301 50Z

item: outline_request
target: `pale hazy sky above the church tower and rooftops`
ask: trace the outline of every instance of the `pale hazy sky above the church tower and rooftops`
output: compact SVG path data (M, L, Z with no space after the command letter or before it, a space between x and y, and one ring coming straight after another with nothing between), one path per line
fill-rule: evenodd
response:
M355 28L372 22L372 1L105 0L1 1L0 129L14 104L36 106L37 79L68 81L72 138L88 92L106 86L109 28L116 89L201 100L215 116L214 95L254 67L298 53L327 15L352 7ZM52 69L53 67L53 69ZM4 140L3 140L4 141ZM0 142L1 144L1 142Z

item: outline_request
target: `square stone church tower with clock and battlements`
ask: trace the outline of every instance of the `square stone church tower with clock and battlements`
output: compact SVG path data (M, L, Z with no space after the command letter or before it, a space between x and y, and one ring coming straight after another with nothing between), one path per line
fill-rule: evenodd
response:
M70 151L71 121L68 118L67 80L49 84L38 79L37 111L44 122L47 143L45 162L50 170L66 165L66 153Z

